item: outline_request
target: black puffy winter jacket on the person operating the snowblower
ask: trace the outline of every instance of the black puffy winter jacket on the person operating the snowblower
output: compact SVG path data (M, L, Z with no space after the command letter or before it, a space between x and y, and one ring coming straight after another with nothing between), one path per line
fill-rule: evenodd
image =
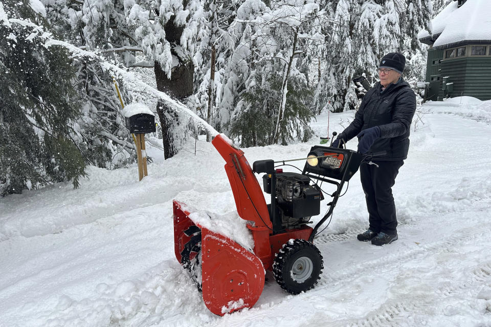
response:
M416 95L402 78L384 91L377 82L366 93L353 122L339 137L349 141L362 130L378 126L380 138L373 143L369 152L387 151L387 154L373 160L404 160L408 156L409 131L415 111Z

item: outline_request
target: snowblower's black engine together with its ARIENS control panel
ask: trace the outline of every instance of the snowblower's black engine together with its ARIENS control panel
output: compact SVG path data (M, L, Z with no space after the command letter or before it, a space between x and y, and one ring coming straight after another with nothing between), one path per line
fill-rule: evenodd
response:
M342 183L335 180L348 181L358 170L362 155L346 149L314 146L306 159L301 174L275 169L275 161L271 159L253 164L254 172L266 173L262 176L263 189L271 194L267 208L274 234L300 228L311 223L310 217L319 215L324 195L315 181L336 185L338 190L329 195L337 200Z

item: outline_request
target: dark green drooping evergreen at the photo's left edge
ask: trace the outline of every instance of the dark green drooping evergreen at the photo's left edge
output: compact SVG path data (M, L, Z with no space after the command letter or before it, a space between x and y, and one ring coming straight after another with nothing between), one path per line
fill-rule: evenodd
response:
M80 116L75 68L60 46L46 48L44 7L0 2L0 195L84 175L72 126ZM43 27L44 26L44 27Z

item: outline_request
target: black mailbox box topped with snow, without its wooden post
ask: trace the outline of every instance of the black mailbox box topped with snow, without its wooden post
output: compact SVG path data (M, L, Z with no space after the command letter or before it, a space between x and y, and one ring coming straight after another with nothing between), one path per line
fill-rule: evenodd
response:
M155 132L155 116L144 104L133 103L123 109L126 128L132 134Z

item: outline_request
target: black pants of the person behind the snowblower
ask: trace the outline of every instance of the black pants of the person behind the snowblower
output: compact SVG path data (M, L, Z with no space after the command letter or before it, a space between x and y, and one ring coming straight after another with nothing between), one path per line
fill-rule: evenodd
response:
M376 161L369 165L360 166L360 179L367 200L370 230L395 235L397 232L397 217L395 215L392 186L399 168L404 161Z

